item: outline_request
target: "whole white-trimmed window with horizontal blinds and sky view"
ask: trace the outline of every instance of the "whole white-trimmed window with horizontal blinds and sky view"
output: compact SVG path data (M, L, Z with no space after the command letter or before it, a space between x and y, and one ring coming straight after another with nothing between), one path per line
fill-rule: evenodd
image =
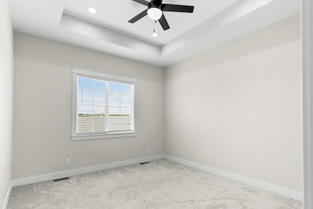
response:
M136 78L72 68L72 140L137 136Z

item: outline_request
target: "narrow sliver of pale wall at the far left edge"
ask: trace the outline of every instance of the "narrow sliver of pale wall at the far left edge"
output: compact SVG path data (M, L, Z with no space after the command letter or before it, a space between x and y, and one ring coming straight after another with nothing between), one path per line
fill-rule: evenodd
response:
M13 28L7 0L0 0L0 207L12 181Z

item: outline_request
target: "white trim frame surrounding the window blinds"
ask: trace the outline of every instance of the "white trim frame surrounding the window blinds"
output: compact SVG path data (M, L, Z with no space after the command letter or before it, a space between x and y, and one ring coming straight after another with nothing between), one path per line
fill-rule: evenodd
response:
M88 133L77 134L77 77L90 77L94 79L105 79L113 82L126 82L134 84L134 131L129 132L109 132L109 133ZM81 68L72 68L72 140L86 139L106 139L117 137L134 137L137 136L137 79L122 75L115 75L94 70L86 70Z

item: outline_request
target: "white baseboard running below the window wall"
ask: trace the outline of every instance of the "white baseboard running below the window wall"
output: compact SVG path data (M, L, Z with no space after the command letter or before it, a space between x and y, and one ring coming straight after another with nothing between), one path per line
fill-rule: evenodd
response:
M133 159L133 160L128 160L128 161L120 161L116 163L108 163L108 164L78 168L74 170L61 171L57 173L50 173L50 174L45 174L41 176L33 176L33 177L28 177L28 178L23 178L23 179L16 179L12 181L12 187L28 185L28 184L38 183L38 182L44 182L44 181L49 181L53 179L60 179L60 178L68 177L68 176L95 172L95 171L105 170L105 169L114 168L114 167L120 167L120 166L125 166L125 165L136 164L136 163L144 163L147 161L154 161L154 160L159 160L163 158L164 158L164 155L156 155L156 156L138 158L138 159Z

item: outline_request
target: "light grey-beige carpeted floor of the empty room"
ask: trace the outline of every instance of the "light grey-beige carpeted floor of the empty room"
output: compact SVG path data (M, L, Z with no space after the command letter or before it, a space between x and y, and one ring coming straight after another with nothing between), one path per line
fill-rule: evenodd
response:
M12 189L8 209L301 209L302 203L168 160Z

